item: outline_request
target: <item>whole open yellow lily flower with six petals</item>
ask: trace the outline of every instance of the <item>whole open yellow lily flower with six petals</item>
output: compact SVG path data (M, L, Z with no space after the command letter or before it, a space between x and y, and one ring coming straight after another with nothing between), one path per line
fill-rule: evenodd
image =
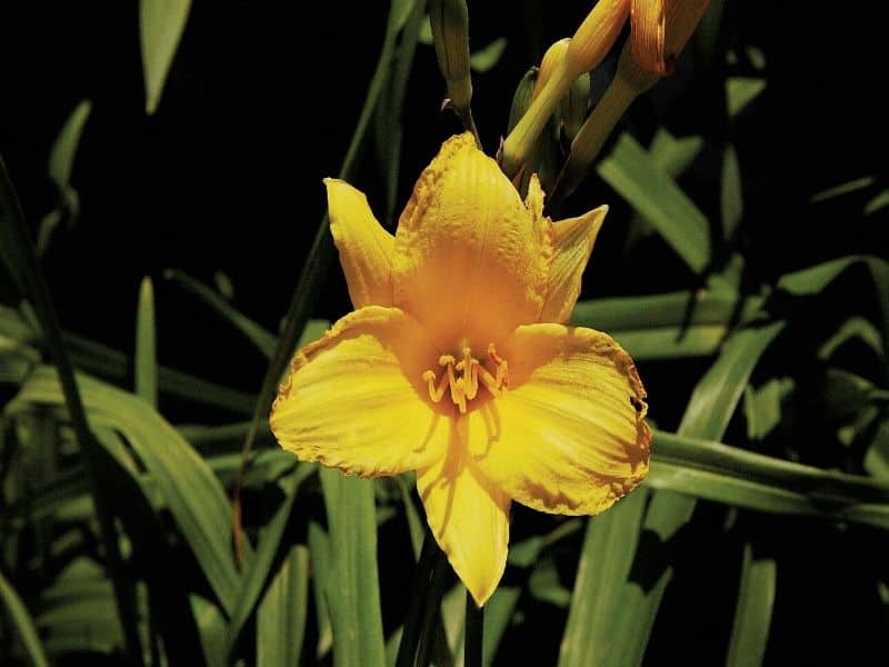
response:
M479 606L503 574L509 507L597 514L648 471L632 359L568 327L606 207L551 222L469 133L422 172L394 237L327 179L356 310L300 350L270 426L303 460L417 471L436 540Z

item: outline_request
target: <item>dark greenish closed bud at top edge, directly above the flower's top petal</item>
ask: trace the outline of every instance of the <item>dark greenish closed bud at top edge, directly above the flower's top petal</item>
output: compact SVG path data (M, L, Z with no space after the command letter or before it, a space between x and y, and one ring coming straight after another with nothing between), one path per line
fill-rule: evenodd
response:
M448 97L455 109L466 112L472 101L466 0L430 0L429 24L438 67L448 83Z

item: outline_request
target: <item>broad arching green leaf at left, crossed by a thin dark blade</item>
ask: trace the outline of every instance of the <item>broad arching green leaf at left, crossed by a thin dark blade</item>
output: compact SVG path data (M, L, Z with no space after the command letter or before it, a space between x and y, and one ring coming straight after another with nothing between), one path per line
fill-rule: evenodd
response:
M99 380L86 376L78 379L90 424L112 428L127 438L154 479L223 609L231 614L240 576L231 554L231 512L219 480L177 430L144 401ZM7 411L14 412L26 404L63 405L51 369L37 369Z

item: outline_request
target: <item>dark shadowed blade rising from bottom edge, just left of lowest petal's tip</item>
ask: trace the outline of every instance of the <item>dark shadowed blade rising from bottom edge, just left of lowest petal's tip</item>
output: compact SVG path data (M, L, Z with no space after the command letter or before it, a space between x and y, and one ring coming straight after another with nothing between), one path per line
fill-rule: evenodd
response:
M427 664L431 647L431 631L437 617L441 595L444 591L447 568L441 549L438 548L432 534L427 531L423 539L417 574L413 577L410 606L404 620L401 644L398 646L396 667L413 667ZM420 647L420 660L418 657Z

